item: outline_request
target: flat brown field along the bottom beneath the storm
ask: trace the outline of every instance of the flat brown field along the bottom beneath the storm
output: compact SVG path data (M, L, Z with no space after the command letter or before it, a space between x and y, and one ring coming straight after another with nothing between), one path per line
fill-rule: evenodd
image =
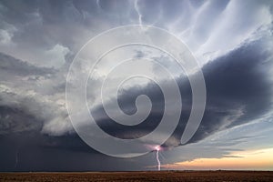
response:
M273 171L0 173L0 181L273 181Z

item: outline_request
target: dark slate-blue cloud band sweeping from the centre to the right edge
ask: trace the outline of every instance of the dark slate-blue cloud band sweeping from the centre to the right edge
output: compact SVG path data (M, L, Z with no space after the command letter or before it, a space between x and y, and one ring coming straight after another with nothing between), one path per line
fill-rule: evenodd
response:
M207 86L207 106L201 125L190 143L202 140L217 131L251 122L270 110L271 52L264 48L263 42L265 41L258 40L246 43L202 68ZM165 144L168 147L179 145L191 107L191 99L188 99L191 98L188 80L181 76L177 83L184 98L184 111L181 112L176 131ZM118 102L126 114L134 114L136 96L143 94L149 96L154 104L150 116L143 123L134 127L122 126L106 116L103 107L98 107L93 111L97 124L109 134L121 138L147 135L157 127L163 116L164 98L160 88L153 84L147 87L132 87L119 94ZM174 138L176 142L173 141Z

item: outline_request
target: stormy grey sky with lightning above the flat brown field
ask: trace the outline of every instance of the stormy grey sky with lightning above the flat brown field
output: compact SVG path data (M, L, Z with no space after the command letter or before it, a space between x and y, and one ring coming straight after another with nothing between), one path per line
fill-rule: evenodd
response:
M156 26L187 45L206 83L204 116L194 136L181 144L193 103L187 73L167 54L133 45L110 52L86 82L86 106L97 126L124 139L153 131L166 104L160 86L134 78L117 95L116 86L120 77L136 70L170 86L172 80L160 68L165 66L177 82L183 109L174 132L161 145L162 170L273 170L271 0L0 0L0 171L157 170L155 151L139 157L110 157L89 147L71 122L71 115L81 113L82 107L76 99L66 103L66 76L77 53L91 38L121 25ZM99 52L120 41L105 38L93 48ZM89 56L96 55L94 50ZM160 66L132 61L117 70L106 86L106 105L102 105L98 100L102 79L117 59L127 56L147 57ZM68 78L82 83L81 76L89 74L85 66L92 60L85 61L86 65L74 64L73 71L80 74ZM104 106L113 108L116 100L124 113L136 113L140 95L147 95L152 104L141 124L124 126L108 116ZM81 94L76 89L71 96ZM176 103L173 99L177 98L171 98ZM140 106L140 111L146 107ZM80 116L83 122L88 118ZM103 141L96 132L92 136ZM157 138L141 141L143 147L155 144ZM115 143L107 145L115 148ZM124 155L134 156L131 152Z

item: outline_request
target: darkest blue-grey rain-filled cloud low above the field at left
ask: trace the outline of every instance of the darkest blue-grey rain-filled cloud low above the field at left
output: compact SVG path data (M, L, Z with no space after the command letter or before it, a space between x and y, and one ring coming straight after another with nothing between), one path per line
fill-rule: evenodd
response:
M124 167L126 170L145 169L144 162L136 161L136 158L101 155L76 135L52 137L39 132L27 132L0 136L0 142L0 171L111 171L125 170ZM143 161L150 163L151 159Z

